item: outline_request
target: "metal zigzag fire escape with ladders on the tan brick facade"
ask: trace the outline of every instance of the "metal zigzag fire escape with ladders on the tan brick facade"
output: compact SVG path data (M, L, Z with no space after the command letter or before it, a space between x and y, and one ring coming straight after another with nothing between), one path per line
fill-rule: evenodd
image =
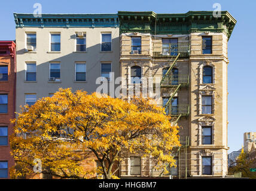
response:
M163 51L163 47L169 47L168 51ZM155 50L155 51L154 51ZM189 57L190 47L187 43L177 43L164 45L158 42L157 45L153 45L153 57L160 58L167 61L167 71L164 71L163 78L160 81L161 92L166 94L166 102L163 103L163 107L167 115L172 116L172 124L175 125L182 117L188 118L189 115L189 105L188 104L176 104L173 106L173 97L176 96L179 90L182 88L188 88L189 85L189 75L188 74L173 74L172 69L177 64L178 59ZM176 177L187 178L187 148L189 146L189 137L179 138L181 146L173 150L173 156L178 157L178 168L176 172L178 173ZM167 165L168 169L168 165ZM169 168L169 175L172 175L172 168Z

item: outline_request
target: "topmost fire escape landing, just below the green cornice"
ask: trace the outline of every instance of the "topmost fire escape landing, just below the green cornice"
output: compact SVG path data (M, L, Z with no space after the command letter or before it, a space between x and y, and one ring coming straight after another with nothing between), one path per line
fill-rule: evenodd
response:
M159 43L153 44L153 57L154 58L174 58L179 57L187 58L190 55L190 45L188 42L179 42L178 44Z

